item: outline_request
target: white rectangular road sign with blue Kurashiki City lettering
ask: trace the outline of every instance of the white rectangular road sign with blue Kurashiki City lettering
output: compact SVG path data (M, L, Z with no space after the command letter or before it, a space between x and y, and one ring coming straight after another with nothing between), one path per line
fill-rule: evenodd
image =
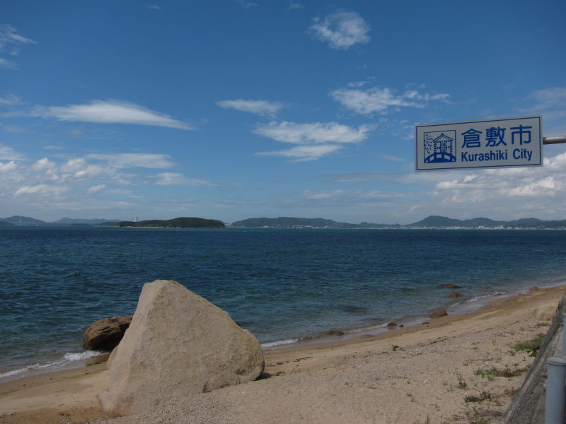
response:
M543 117L415 125L415 171L543 165Z

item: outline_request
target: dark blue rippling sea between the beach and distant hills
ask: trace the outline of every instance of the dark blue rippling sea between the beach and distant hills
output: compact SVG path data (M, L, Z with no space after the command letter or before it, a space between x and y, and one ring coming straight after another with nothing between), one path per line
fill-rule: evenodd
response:
M270 343L427 314L444 283L460 302L564 283L565 259L559 230L1 228L0 378L88 355L84 329L158 278Z

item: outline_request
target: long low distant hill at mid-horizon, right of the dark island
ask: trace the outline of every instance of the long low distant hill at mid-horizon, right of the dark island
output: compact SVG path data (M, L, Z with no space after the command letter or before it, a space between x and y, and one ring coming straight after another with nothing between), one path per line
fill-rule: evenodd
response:
M396 226L400 226L395 224ZM248 218L232 223L233 227L238 228L293 228L293 227L313 227L313 228L391 228L393 225L373 224L373 223L339 223L335 220L324 218L293 218L280 216L279 218Z

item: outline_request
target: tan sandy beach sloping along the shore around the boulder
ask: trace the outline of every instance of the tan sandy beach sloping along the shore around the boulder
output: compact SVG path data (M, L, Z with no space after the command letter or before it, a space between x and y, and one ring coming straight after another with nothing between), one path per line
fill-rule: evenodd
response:
M265 378L139 416L100 411L105 363L25 377L0 384L0 423L497 423L533 361L513 346L545 333L536 312L565 292L533 288L379 336L265 351Z

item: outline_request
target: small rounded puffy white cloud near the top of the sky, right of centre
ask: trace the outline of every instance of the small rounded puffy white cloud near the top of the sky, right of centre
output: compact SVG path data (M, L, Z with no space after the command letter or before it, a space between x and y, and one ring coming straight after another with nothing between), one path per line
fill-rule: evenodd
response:
M323 20L315 18L309 28L317 40L328 42L333 49L349 49L369 42L369 24L356 12L337 12Z

